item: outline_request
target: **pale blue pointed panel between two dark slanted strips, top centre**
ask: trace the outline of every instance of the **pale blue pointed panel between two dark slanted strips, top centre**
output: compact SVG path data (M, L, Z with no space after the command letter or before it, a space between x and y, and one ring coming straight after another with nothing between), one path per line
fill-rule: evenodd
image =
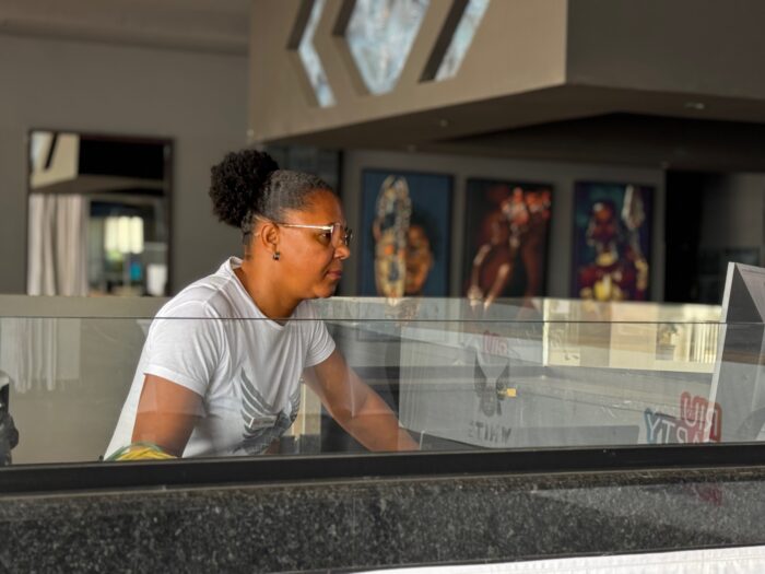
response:
M356 0L345 37L373 94L396 87L428 4L429 0Z

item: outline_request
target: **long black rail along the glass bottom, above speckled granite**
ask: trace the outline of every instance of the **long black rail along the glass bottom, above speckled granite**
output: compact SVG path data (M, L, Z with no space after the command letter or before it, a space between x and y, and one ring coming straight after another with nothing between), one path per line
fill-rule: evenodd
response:
M226 457L11 466L0 471L5 494L122 489L216 488L234 484L454 478L626 470L762 467L765 444L649 445L629 447L518 448L328 456Z

